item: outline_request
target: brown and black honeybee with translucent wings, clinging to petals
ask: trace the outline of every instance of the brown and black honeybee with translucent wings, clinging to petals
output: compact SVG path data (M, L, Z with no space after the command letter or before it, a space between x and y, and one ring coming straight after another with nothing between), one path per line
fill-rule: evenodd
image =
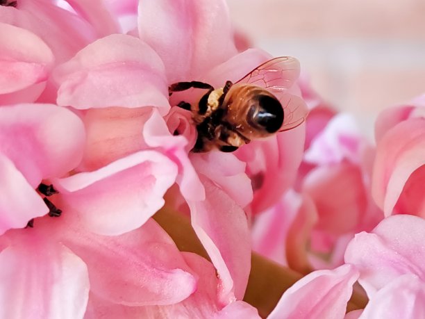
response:
M197 104L178 103L192 112L197 126L192 152L234 152L251 140L299 126L308 108L288 92L298 76L298 60L285 56L268 60L235 83L226 81L223 88L199 81L170 85L170 96L190 88L207 90Z

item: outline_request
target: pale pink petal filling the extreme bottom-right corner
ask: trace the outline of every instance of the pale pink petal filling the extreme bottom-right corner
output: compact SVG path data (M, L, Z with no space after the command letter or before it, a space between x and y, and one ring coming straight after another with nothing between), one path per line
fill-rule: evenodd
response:
M369 300L360 319L425 318L425 284L415 275L403 275Z

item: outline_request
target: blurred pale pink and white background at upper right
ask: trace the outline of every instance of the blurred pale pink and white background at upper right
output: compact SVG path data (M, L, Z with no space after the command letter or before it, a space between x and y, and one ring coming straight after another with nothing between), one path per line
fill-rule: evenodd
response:
M228 0L235 27L294 56L313 88L373 138L386 106L425 93L425 0Z

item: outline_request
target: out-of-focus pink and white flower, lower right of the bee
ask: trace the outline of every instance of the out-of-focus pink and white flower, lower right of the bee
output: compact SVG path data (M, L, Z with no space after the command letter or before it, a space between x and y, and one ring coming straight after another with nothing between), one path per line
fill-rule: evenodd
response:
M369 195L372 156L353 119L335 115L306 150L299 193L256 218L254 249L303 273L341 265L353 235L383 218Z

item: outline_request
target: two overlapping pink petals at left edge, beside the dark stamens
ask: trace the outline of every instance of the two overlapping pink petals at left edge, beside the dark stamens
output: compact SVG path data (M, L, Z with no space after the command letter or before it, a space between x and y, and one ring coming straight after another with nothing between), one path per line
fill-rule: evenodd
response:
M65 108L0 108L1 234L49 212L35 189L43 179L63 177L78 165L84 137L82 122Z

